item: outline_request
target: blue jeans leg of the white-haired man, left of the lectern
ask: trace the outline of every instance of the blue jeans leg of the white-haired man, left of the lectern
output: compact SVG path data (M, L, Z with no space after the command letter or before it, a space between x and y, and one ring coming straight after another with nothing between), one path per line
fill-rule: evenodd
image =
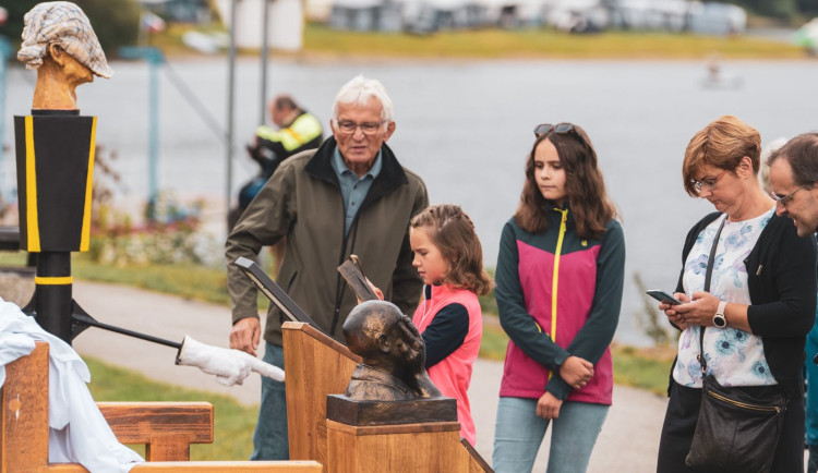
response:
M284 369L284 348L264 342L264 361ZM289 460L287 397L284 383L262 376L262 404L253 434L251 460Z

